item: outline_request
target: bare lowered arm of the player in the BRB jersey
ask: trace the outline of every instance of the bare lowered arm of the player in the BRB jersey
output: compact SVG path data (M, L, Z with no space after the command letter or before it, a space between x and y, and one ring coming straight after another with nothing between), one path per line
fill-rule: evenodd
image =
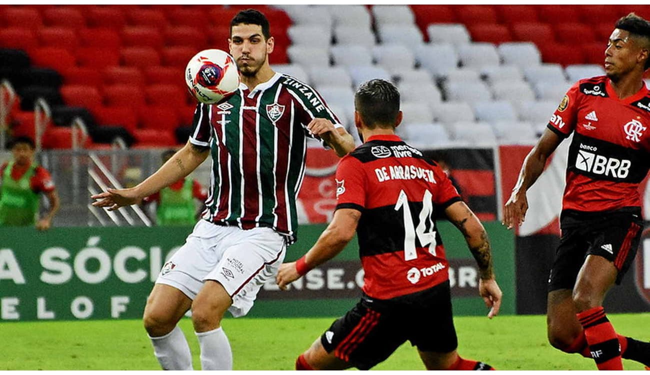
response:
M508 229L521 226L525 220L526 211L528 211L526 191L537 181L544 170L547 159L558 148L560 142L562 142L562 138L546 129L535 147L526 155L517 184L512 188L510 199L506 202L503 210L503 225Z

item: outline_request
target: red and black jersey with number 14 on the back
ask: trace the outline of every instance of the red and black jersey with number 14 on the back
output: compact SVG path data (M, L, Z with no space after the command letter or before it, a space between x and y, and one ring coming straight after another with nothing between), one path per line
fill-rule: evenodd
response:
M339 162L336 209L357 209L363 292L389 299L448 276L436 213L460 196L445 172L396 135L371 136Z

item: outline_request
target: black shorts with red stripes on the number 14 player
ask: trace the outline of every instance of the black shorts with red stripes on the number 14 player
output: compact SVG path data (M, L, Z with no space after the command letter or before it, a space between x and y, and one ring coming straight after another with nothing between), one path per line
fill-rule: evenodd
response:
M423 352L456 349L449 281L391 300L364 294L320 337L328 353L334 352L359 370L384 361L406 340Z

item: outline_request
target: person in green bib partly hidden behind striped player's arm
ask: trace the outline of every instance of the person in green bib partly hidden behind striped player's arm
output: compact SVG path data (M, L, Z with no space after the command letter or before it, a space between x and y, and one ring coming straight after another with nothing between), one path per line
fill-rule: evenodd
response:
M162 153L162 164L174 156L176 151L168 149ZM159 226L194 226L197 210L194 199L203 203L207 191L195 179L179 179L172 185L144 198L144 203L157 203L156 222Z

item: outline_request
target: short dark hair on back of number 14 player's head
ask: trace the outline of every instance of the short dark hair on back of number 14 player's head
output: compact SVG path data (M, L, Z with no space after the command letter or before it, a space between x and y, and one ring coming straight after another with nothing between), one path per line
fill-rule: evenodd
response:
M395 127L400 112L400 92L389 81L371 79L357 89L354 107L370 129L377 126Z

